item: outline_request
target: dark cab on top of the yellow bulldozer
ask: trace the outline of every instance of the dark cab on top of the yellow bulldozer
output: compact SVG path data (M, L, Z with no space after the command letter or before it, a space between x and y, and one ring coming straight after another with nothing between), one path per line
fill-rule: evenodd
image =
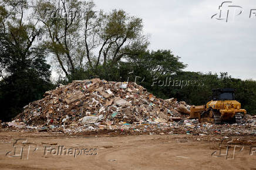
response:
M235 100L235 90L234 89L213 89L213 96L211 97L213 101L218 100Z

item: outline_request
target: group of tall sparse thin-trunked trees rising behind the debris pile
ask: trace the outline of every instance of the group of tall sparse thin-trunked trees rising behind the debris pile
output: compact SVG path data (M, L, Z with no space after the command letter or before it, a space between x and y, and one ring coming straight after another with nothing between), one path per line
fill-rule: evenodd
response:
M142 19L122 10L96 12L93 1L38 0L34 16L47 32L45 43L66 77L76 70L116 65L127 55L139 55L148 45Z

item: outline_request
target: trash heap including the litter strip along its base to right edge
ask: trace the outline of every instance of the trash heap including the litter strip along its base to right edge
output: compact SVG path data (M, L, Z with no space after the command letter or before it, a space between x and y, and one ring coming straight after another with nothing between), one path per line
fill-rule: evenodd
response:
M256 134L253 117L242 125L214 125L189 120L189 115L190 106L184 101L156 98L136 83L92 79L46 91L45 98L23 107L5 127L66 133Z

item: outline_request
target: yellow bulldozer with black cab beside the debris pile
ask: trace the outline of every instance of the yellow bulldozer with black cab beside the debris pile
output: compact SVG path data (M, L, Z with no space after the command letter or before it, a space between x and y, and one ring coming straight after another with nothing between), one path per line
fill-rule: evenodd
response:
M190 118L198 118L200 123L235 122L241 124L247 111L241 109L241 103L235 100L234 92L234 89L213 89L211 101L206 105L190 108Z

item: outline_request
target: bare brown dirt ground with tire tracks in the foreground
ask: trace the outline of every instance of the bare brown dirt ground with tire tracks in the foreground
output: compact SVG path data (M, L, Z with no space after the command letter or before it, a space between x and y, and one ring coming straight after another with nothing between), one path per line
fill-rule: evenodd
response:
M0 169L256 169L255 136L2 131L0 139Z

